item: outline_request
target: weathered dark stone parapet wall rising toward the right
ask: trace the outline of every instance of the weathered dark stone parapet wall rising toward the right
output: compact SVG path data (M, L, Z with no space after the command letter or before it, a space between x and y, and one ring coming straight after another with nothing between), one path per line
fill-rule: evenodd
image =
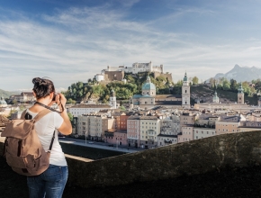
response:
M0 145L2 152L3 143ZM261 164L261 130L231 133L96 161L67 156L68 184L84 188L199 175Z

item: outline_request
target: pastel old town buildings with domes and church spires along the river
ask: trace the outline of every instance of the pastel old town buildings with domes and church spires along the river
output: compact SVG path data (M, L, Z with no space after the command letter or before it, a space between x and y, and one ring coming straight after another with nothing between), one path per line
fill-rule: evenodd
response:
M182 95L157 95L149 76L141 93L130 98L129 110L116 109L113 95L108 106L96 104L97 108L91 109L76 105L89 109L87 113L77 112L76 106L68 110L77 116L76 134L130 148L157 148L261 127L261 111L244 103L242 86L238 88L238 103L219 103L215 92L212 103L195 103L192 107L186 73Z

